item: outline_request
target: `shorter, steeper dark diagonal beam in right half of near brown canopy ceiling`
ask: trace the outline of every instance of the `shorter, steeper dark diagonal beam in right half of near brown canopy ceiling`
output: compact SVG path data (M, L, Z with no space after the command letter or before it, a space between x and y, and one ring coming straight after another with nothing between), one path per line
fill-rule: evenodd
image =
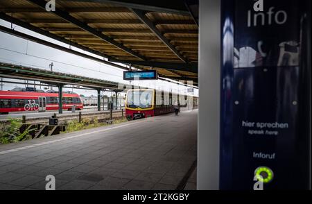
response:
M187 63L187 58L184 58L184 56L182 56L181 53L177 51L177 49L175 49L175 47L166 39L166 37L164 37L164 35L162 35L162 33L158 31L158 29L153 24L153 22L150 22L150 19L146 17L145 12L143 10L137 10L137 9L131 9L131 10L132 12L135 13L135 15L137 15L137 17L142 22L144 22L146 26L148 26L148 28L150 28L150 31L152 31L159 38L159 40L162 40L162 42L166 44L166 46L168 46L168 48L171 49L171 51L173 51L173 53L175 53L175 55L178 58L180 58L180 60Z

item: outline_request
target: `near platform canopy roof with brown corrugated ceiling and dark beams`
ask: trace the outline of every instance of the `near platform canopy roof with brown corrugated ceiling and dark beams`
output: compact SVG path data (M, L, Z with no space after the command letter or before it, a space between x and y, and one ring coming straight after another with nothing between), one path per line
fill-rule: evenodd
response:
M197 81L196 1L56 0L52 12L47 2L0 0L0 18L110 62Z

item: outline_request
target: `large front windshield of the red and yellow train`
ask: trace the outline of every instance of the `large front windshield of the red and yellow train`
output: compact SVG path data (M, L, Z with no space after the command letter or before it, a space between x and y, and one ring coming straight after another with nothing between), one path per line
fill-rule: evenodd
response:
M130 91L127 96L128 108L151 108L153 104L153 91Z

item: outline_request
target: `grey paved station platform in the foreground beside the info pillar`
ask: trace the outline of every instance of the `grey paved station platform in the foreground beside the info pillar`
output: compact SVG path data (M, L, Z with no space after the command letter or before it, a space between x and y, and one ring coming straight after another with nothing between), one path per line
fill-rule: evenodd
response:
M198 110L0 145L0 189L179 189L193 178ZM191 183L192 184L192 183ZM189 187L188 187L189 188Z

